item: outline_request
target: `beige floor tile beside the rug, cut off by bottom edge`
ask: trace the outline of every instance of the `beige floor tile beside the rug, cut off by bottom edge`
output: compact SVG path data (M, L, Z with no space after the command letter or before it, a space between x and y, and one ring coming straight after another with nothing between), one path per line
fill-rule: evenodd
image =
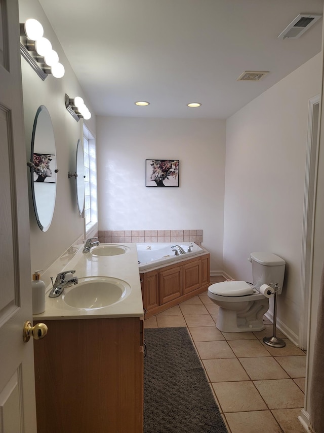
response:
M225 413L232 433L281 433L270 411Z

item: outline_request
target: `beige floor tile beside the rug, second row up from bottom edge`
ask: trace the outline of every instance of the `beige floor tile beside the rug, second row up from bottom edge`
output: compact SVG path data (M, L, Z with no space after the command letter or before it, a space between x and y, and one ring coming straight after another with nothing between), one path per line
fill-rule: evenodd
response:
M266 404L251 381L218 382L212 385L224 413L267 409Z

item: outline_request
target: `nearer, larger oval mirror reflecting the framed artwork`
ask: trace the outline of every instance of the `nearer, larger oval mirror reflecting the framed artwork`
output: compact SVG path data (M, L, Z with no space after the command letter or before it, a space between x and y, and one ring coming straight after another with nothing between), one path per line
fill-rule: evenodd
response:
M56 148L50 113L44 105L38 108L31 138L31 190L39 228L51 225L56 195Z

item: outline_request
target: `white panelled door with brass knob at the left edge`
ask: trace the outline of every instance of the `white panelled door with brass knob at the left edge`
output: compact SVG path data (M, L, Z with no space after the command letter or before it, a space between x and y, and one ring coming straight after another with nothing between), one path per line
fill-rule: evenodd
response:
M0 0L0 432L35 433L29 211L18 0Z

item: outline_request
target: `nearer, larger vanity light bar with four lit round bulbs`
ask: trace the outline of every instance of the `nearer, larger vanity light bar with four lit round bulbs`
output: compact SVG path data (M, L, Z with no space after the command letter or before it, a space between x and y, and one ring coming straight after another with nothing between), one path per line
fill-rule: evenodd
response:
M42 24L33 18L20 24L20 53L43 81L48 74L62 78L64 66L59 63L59 56L52 49L51 42L43 35Z

